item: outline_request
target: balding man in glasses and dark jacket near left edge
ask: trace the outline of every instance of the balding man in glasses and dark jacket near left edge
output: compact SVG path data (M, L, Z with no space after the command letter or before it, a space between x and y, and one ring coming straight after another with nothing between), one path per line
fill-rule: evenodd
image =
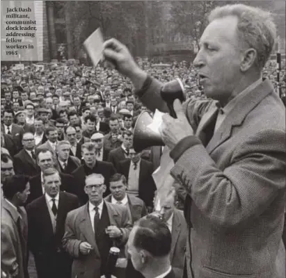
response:
M24 133L23 149L14 156L14 167L17 174L33 177L40 172L35 157L35 138L33 133Z

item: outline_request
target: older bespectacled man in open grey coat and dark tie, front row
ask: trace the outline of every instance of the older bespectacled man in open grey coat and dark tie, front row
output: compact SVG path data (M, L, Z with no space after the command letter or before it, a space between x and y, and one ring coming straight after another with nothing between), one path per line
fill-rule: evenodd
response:
M100 278L110 248L125 245L132 225L125 206L104 202L102 174L86 177L84 190L88 202L67 214L63 247L74 259L72 278Z

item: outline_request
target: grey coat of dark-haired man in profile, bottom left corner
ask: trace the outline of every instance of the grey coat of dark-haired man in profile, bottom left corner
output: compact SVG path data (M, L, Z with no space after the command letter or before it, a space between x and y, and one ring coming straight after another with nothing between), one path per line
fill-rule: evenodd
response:
M19 213L6 199L1 199L1 271L12 275L18 270L16 278L27 278L26 247L28 236L28 222L26 211L20 208L22 213L22 233L17 228Z

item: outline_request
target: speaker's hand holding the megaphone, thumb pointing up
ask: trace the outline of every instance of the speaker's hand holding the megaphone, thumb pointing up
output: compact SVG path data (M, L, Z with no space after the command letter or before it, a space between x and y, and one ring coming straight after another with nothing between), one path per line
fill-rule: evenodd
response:
M162 140L170 149L173 149L186 136L193 135L193 129L186 119L180 100L175 99L173 105L177 119L165 114L162 117L163 122L161 125Z

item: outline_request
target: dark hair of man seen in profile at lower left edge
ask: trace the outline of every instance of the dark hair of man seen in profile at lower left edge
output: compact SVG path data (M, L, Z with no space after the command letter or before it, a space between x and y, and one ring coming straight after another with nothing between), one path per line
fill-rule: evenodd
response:
M22 174L16 174L12 177L7 177L3 181L3 195L7 199L13 199L16 193L22 193L26 189L26 184L29 182L29 177Z

